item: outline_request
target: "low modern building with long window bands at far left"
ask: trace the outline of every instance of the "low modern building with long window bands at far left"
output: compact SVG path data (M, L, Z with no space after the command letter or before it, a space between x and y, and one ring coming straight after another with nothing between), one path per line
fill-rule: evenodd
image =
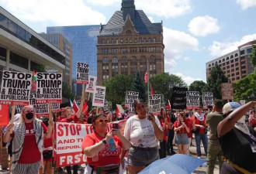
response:
M40 64L62 73L65 54L0 7L0 70L31 73Z

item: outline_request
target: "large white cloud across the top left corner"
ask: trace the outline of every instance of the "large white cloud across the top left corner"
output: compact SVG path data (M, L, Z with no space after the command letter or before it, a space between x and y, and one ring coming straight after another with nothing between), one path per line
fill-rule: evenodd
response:
M57 26L105 23L106 17L82 0L2 0L5 9L22 21L45 22Z

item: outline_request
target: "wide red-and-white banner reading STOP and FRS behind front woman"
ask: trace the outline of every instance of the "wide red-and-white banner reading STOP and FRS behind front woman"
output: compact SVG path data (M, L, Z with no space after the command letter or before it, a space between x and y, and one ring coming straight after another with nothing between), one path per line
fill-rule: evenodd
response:
M112 129L112 124L118 123L119 130L123 134L126 120L115 121L108 124L107 131ZM64 167L68 165L85 164L86 156L81 153L81 143L86 135L91 134L91 124L56 123L56 165Z

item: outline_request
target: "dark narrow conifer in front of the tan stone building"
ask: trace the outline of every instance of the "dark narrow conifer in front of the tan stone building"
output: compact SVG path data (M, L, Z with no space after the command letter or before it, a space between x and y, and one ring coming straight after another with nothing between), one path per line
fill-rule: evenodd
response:
M146 85L144 83L144 80L142 80L142 77L140 75L140 72L137 71L135 73L135 77L133 80L133 85L130 88L131 91L139 92L139 98L144 100L146 102Z

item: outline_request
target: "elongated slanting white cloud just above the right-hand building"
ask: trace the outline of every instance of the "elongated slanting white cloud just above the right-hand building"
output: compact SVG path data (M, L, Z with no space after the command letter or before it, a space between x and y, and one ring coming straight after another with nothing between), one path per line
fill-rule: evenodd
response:
M237 48L238 46L243 45L244 43L253 41L254 39L256 39L256 34L243 36L242 39L240 39L240 41L236 41L233 43L232 42L220 43L220 42L214 41L213 45L209 46L208 49L211 56L219 57L238 49Z

